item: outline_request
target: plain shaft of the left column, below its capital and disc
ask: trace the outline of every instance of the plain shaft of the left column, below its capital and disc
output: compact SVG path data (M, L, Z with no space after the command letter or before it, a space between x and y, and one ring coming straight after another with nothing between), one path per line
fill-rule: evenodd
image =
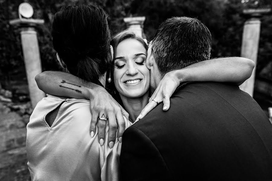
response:
M21 43L31 105L34 108L45 96L44 92L38 88L35 81L35 76L42 72L42 67L37 32L34 27L21 28Z

